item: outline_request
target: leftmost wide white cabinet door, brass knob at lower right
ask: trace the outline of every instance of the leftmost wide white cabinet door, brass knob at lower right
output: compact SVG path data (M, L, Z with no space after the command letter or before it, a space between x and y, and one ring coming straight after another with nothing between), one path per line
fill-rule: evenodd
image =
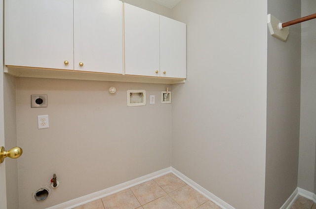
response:
M4 5L5 65L74 69L73 0L5 0Z

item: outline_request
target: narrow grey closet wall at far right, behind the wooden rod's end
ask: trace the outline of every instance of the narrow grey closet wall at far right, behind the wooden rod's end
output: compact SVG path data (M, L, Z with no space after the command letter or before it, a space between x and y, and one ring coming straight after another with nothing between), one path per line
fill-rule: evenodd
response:
M315 13L315 0L302 0L302 16ZM302 23L301 130L298 186L316 193L316 22Z

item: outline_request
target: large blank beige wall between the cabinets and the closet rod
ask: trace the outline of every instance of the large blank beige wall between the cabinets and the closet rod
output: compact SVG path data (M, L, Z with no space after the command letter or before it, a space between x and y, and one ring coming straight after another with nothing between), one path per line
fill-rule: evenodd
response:
M172 167L236 209L263 209L267 1L182 0L187 82L174 85Z

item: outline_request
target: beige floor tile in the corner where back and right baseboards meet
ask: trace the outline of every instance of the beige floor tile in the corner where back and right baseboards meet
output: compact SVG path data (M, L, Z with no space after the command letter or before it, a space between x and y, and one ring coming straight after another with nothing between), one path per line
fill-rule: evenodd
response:
M185 182L183 182L180 178L178 178L175 174L172 173L163 175L154 180L167 193L170 193L174 190L177 190L187 185Z

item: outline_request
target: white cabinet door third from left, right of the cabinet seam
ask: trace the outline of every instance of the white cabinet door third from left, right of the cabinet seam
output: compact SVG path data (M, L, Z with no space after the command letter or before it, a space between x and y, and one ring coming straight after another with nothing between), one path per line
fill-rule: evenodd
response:
M124 29L125 74L159 76L159 15L124 3Z

